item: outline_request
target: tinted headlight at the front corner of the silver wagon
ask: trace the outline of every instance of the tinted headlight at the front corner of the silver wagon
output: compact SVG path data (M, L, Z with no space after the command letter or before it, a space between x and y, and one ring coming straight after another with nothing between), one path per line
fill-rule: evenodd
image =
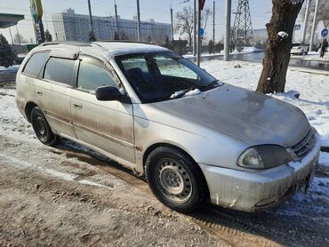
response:
M249 169L268 169L292 160L284 147L261 145L249 147L237 159L237 165Z

